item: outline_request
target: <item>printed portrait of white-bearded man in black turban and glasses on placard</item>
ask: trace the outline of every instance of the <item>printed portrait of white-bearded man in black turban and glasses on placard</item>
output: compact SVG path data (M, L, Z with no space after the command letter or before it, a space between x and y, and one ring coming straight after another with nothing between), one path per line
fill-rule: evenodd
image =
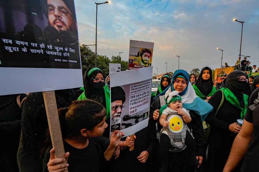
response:
M120 130L120 116L125 100L125 92L121 87L111 87L111 131Z

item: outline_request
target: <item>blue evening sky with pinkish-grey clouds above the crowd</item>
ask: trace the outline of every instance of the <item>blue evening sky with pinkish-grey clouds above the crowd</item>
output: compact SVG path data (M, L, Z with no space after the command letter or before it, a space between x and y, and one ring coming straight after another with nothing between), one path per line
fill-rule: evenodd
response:
M96 4L105 0L75 0L79 41L95 44ZM154 42L153 72L174 72L223 64L234 65L241 54L259 66L259 6L257 0L112 0L98 5L97 53L128 60L129 40ZM94 46L90 48L95 51ZM243 58L242 58L243 59Z

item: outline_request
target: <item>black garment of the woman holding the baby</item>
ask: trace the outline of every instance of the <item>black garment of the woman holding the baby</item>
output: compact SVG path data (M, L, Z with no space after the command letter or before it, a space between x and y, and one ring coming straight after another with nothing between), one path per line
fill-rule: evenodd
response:
M161 105L160 105L160 99L159 97L157 97L154 102L152 103L152 105L150 106L150 120L154 120L153 119L153 113L155 110L160 109ZM202 127L202 121L201 121L201 117L199 115L197 115L194 111L190 110L189 112L192 121L190 123L187 124L187 126L189 127L190 130L193 130L193 136L194 136L194 140L195 140L195 148L196 148L196 156L202 156L203 160L205 161L206 157L205 157L205 147L206 147L206 142L204 140L204 132L203 132L203 127ZM162 126L160 125L160 123L158 122L159 119L154 120L154 122L157 122L157 131L160 132ZM173 155L171 153L169 153L170 157L172 158L172 166L174 166L174 170L175 171L188 171L188 169L190 171L194 171L193 166L191 166L190 164L184 164L185 158L186 158L186 150L184 150L183 152L179 152L179 153L174 153ZM177 158L175 158L177 157ZM178 157L182 157L182 158L178 158Z

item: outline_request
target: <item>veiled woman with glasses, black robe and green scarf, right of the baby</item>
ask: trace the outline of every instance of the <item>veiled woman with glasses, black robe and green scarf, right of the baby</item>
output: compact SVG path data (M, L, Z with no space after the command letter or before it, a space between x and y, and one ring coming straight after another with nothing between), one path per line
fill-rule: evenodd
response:
M211 125L211 132L208 141L208 161L203 168L204 171L222 171L226 164L232 143L241 128L237 125L237 119L243 119L247 110L248 96L243 94L247 83L248 78L243 72L231 72L223 81L221 89L213 94L208 102L214 110L205 119ZM222 92L224 101L217 111ZM239 170L240 166L236 168L236 171Z

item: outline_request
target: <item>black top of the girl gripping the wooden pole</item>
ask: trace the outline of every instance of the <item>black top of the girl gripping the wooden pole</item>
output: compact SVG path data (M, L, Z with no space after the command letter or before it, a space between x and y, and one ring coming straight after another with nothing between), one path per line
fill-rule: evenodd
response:
M108 144L109 140L107 140L106 142ZM104 152L109 146L109 144L106 145L105 148L102 148L98 141L98 138L89 139L88 146L83 149L77 149L64 140L63 144L65 152L70 153L67 161L67 163L69 164L69 172L104 171L104 167L106 165ZM52 146L48 148L42 160L43 172L48 172L47 164L50 158L49 151L51 149Z

